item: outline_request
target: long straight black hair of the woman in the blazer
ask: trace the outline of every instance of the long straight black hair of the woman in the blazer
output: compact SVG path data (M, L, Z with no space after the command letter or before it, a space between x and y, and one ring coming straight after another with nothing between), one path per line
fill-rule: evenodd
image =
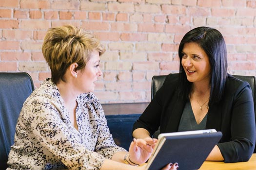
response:
M211 65L211 92L208 106L212 103L220 102L228 77L227 50L222 34L218 30L209 27L197 27L189 31L184 35L179 44L179 95L183 99L188 99L192 90L192 83L187 80L185 70L181 64L184 44L189 42L197 43L209 57Z

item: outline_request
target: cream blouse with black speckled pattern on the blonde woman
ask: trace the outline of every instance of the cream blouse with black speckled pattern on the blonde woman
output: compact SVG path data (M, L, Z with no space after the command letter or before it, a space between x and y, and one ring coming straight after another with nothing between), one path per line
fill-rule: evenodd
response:
M48 78L24 102L16 125L7 170L99 170L118 147L93 93L77 98L78 130L57 86Z

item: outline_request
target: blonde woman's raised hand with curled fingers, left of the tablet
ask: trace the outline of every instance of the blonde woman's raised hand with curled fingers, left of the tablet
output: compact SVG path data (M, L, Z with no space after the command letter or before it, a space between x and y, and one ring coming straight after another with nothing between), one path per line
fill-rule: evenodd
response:
M134 164L143 164L151 156L157 140L147 137L145 139L133 139L129 148L129 160Z

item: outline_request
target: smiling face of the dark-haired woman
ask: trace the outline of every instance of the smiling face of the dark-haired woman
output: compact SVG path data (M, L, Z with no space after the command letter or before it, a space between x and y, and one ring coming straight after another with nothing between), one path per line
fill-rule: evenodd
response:
M195 42L185 43L182 50L181 64L191 83L206 82L211 79L211 66L209 57Z

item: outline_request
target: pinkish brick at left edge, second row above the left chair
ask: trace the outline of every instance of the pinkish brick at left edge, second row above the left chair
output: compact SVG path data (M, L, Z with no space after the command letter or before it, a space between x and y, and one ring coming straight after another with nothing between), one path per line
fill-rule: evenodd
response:
M28 61L30 59L31 59L30 52L14 52L14 51L1 52L2 61Z

